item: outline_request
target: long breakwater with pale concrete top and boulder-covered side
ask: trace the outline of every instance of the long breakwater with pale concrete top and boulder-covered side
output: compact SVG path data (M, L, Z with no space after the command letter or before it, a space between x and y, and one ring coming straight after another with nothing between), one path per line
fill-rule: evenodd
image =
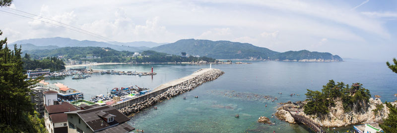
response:
M161 102L164 99L169 99L195 89L205 82L217 79L222 74L224 74L224 72L219 69L200 69L192 75L163 84L150 93L113 106L123 114L130 115Z

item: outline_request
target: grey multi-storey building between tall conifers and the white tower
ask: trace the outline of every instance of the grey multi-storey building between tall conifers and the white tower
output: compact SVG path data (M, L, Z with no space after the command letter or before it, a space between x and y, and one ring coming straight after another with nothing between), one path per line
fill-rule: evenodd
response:
M44 116L44 93L45 91L50 90L49 88L45 87L35 87L30 89L31 97L30 100L34 103L33 108L40 113L40 116Z

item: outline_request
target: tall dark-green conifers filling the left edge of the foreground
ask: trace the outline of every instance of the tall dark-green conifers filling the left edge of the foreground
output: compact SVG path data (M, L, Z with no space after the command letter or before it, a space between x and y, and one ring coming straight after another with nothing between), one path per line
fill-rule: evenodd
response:
M2 1L1 1L2 2ZM0 35L2 32L0 31ZM3 45L5 46L3 47ZM0 131L40 133L40 119L30 101L30 87L41 79L26 80L21 49L11 51L7 38L0 41Z

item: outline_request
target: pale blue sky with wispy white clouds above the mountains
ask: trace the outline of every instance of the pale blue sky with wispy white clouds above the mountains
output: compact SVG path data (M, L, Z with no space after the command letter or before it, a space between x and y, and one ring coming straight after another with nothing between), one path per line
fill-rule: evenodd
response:
M13 9L37 16L1 12L20 15ZM382 62L397 57L397 0L14 0L0 7L0 18L0 38L8 43L51 37L157 43L193 38Z

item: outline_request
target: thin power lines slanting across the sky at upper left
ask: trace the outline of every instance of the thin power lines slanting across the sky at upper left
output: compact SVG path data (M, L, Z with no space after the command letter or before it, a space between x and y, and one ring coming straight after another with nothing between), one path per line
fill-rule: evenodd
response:
M5 7L4 9L9 9L9 10L12 10L14 12L8 12L8 11L2 11L2 10L0 10L0 11L8 13L8 14L11 14L11 15L14 15L14 16L19 16L19 17L22 17L22 18L38 20L38 21L41 21L41 22L44 22L44 23L47 23L47 24L51 24L51 25L54 25L54 26L59 26L59 27L62 27L62 28L65 28L65 29L68 29L68 30L71 30L71 31L75 31L75 32L81 33L81 34L85 34L85 35L88 35L88 36L92 36L92 37L95 37L95 38L106 40L106 41L109 41L109 42L112 42L112 43L124 45L122 43L119 43L119 42L114 41L112 39L109 39L107 37L104 37L104 36L101 36L101 35L98 35L98 34L95 34L95 33L92 33L92 32L89 32L89 31L86 31L86 30L83 30L83 29L80 29L80 28L77 28L77 27L74 27L74 26L71 26L71 25L68 25L68 24L65 24L65 23L62 23L62 22L59 22L59 21L55 21L55 20L52 20L52 19L49 19L49 18L46 18L46 17L43 17L43 16L39 16L39 15L36 15L36 14L33 14L33 13L29 13L29 12L25 12L25 11L22 11L22 10L13 9L13 8L10 8L10 7ZM15 11L17 13L15 13ZM23 15L21 15L21 14L23 14ZM35 18L35 17L42 18L42 19L38 19L38 18ZM47 20L47 21L45 21L45 20Z

